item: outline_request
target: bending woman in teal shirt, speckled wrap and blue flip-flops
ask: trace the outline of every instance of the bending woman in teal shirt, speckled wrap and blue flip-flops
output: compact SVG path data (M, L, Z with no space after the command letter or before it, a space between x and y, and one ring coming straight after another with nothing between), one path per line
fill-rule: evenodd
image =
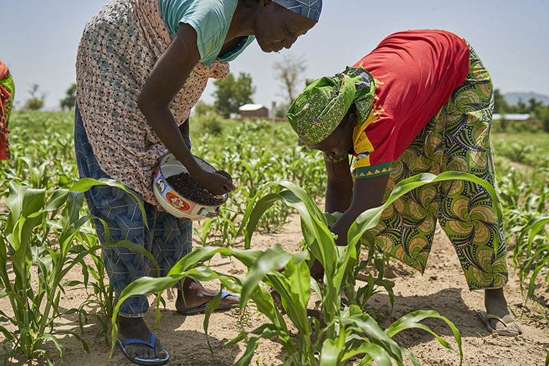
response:
M132 195L110 186L85 193L110 239L147 249L165 276L192 250L192 222L165 212L153 193L154 171L171 152L214 195L233 191L223 175L203 170L191 154L189 114L209 77L224 79L228 62L257 40L264 52L289 49L318 22L322 0L110 0L84 27L76 59L75 150L81 178L113 178L142 197L148 228ZM102 223L94 219L102 243ZM130 282L155 276L150 260L124 247L103 249L117 297ZM176 310L204 312L217 291L189 278ZM184 295L184 296L183 296ZM185 301L183 301L183 298ZM218 309L237 306L222 293ZM145 295L120 308L117 345L139 365L170 358L143 321Z

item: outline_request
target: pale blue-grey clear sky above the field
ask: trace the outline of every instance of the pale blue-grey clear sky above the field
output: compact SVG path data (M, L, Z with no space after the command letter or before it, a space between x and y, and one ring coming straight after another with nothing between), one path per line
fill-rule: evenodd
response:
M84 23L107 0L2 0L0 60L16 83L23 103L34 83L47 93L46 106L58 107L75 80L75 55ZM304 56L303 77L331 75L369 53L388 34L437 28L469 40L503 93L549 95L548 0L325 0L320 22L280 54L263 53L254 43L231 72L250 73L256 103L281 101L272 64L284 53ZM303 82L301 82L303 85ZM211 103L211 83L202 100ZM18 103L19 104L19 103Z

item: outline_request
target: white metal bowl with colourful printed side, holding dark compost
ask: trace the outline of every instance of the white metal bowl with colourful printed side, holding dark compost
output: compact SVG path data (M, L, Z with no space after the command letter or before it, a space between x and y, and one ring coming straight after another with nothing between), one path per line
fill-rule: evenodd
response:
M198 156L194 156L198 165L205 171L217 171L208 162ZM154 174L154 196L161 206L170 214L182 219L200 221L220 215L220 206L229 199L229 193L224 195L223 202L218 206L205 206L185 197L185 193L176 192L166 178L180 173L188 173L185 165L181 164L173 154L166 154L160 160L159 168Z

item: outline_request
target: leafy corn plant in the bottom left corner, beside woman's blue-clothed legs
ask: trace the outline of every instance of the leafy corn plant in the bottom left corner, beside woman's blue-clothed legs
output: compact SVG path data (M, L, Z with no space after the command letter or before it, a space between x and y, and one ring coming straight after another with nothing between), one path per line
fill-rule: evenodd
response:
M78 334L54 329L55 319L78 311L78 309L71 309L60 313L59 302L61 293L65 293L62 279L72 267L83 263L85 256L102 247L117 245L141 252L152 260L152 263L156 263L149 252L129 241L109 241L104 245L94 245L87 250L78 251L78 255L72 258L71 255L75 254L71 252L73 241L82 229L82 225L92 219L91 215L80 216L84 200L82 192L97 184L126 189L114 180L97 181L85 178L75 182L71 190L54 191L47 200L45 188L31 188L10 182L10 195L6 199L10 213L3 236L0 236L0 284L2 287L0 298L9 298L14 314L10 317L0 310L0 322L9 321L17 329L15 332L10 332L4 326L0 326L0 332L3 333L5 341L12 343L11 352L8 352L4 345L9 357L17 352L23 353L26 358L43 354L49 365L53 365L51 354L44 349L43 343L52 341L62 357L63 348L58 339L60 334L71 334L82 342L84 350L88 350L88 345L80 339ZM46 220L49 212L59 210L60 219ZM141 210L144 215L144 209L141 208ZM56 232L55 245L31 240L35 231L43 228L45 221ZM108 228L106 230L108 236ZM8 254L8 248L10 254ZM31 286L33 265L37 266L38 289L33 289ZM14 278L8 273L10 267L14 272Z

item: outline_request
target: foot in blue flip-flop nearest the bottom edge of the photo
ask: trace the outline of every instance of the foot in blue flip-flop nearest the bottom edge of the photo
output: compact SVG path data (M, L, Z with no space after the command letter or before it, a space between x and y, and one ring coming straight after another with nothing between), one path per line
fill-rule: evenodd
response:
M127 339L140 339L150 343L151 333L145 321L142 317L118 317L118 338L120 341L126 341ZM143 343L128 344L124 347L124 350L130 355L130 357L154 359L165 358L167 356L165 350L163 350L159 339L156 339L154 344L154 350L148 345Z

